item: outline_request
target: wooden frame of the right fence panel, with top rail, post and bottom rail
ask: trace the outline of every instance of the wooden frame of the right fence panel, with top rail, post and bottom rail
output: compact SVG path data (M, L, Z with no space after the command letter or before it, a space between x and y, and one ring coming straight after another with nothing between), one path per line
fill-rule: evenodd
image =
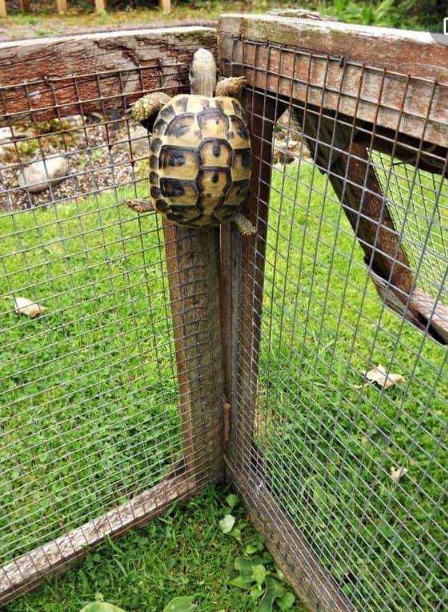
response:
M288 516L276 504L264 484L263 460L258 458L254 444L269 202L269 141L272 138L272 124L279 118L279 113L284 108L283 103L294 99L298 106L314 104L325 108L325 115L329 115L331 119L331 124L326 127L326 117L320 113L319 138L317 126L309 117L306 118L303 132L315 163L323 171L329 168L329 150L333 151L331 135L337 130L333 127L334 119L331 113L335 111L352 118L353 124L356 124L356 121L363 122L364 125L373 123L383 130L397 130L399 123L402 143L407 143L409 139L418 143L424 134L429 145L428 151L433 152L436 147L438 156L446 154L448 47L435 42L431 35L426 33L347 25L316 19L315 15L312 19L296 18L293 16L294 11L288 11L288 14L291 17L229 14L222 15L219 19L219 58L222 72L224 76L242 74L247 78L248 95L255 100L255 108L254 102L249 105L254 158L262 158L261 163L256 163L251 195L245 205L247 216L253 221L258 219L256 245L242 242L235 231L223 230L222 278L226 312L224 371L226 396L231 400L233 424L231 438L226 446L226 469L228 480L242 494L252 522L265 536L267 547L307 608L312 612L354 612L354 605L343 595L300 534L293 530L288 533L289 537L285 537L285 533L281 532L280 526L287 531L293 528ZM248 53L251 51L243 47L244 41L257 43L257 51L253 51L250 57ZM292 54L290 58L287 54L282 56L282 51L288 48L303 51L304 60L294 61ZM351 61L349 79L345 81L342 91L338 91L335 83L340 82L340 74L347 61ZM372 67L371 78L367 88L363 90L363 102L355 107L360 75L366 67ZM416 78L410 92L406 89L409 83L402 75L397 74L397 68L400 72L406 72ZM320 86L315 90L307 86L310 74L313 74L313 83ZM333 91L331 86L328 90L325 86L322 87L322 83L328 82L333 84ZM405 94L410 95L412 108L409 108L408 117L403 120L404 113L399 106ZM381 107L381 112L377 112L382 95L388 95L387 102ZM261 106L263 110L260 112ZM256 115L254 121L251 113ZM265 123L264 127L261 125L261 118ZM292 127L294 128L295 122L296 129L301 131L303 119L303 115L294 117ZM366 131L368 132L368 128ZM328 141L325 140L325 135L328 136ZM340 139L337 144L342 152L345 147L351 146L351 139L347 136L350 135L343 130L340 134L335 134L335 137ZM318 140L319 145L316 144ZM384 152L397 156L403 154L396 140L395 149ZM335 169L334 175L345 176L347 169L356 182L357 173L365 176L363 158L367 143L359 138L359 141L353 144L356 144L358 149L351 153L354 154L354 159L359 159L358 162L351 161L346 168L346 154L340 154L339 158L338 154L335 154L338 159L332 161L341 165L341 168ZM374 145L381 146L381 140L375 140ZM422 147L419 161L420 168L439 174L447 172L446 164L434 166L431 155L426 157ZM331 168L333 169L333 166ZM333 183L335 193L340 195L340 186L331 176L329 179ZM372 193L381 194L381 187L374 172L366 179L371 182ZM401 316L411 321L414 308L414 312L420 314L422 319L431 320L433 335L446 343L448 310L441 303L434 304L433 300L415 290L406 254L402 252L395 234L385 232L381 243L383 226L392 223L388 220L387 211L380 212L383 199L360 198L356 189L352 191L347 208L353 207L354 215L350 217L347 210L345 213L354 230L354 217L361 219L358 221L359 227L356 227L356 237L365 250L366 259L370 258L368 272L381 298ZM360 201L363 199L367 202L367 209L363 208L360 214ZM372 228L375 233L377 227L380 227L378 250L384 249L386 254L390 253L390 261L388 258L385 258L387 261L380 260L376 249L370 243ZM394 235L393 240L385 239L390 235ZM376 273L377 271L379 273ZM386 290L384 286L387 287ZM403 296L407 299L406 309L403 307ZM415 321L413 323L416 324ZM431 326L428 330L425 325L417 324L426 333L431 332Z

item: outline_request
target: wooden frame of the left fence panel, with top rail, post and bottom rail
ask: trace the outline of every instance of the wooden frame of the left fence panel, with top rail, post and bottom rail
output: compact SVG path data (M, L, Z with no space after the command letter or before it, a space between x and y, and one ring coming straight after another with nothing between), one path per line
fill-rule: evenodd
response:
M21 110L28 121L30 112L33 118L42 119L82 112L83 100L90 100L90 111L103 112L103 100L91 95L88 85L91 79L83 78L85 74L115 74L122 70L142 75L142 69L149 67L147 76L128 83L125 95L128 105L142 95L142 90L160 88L161 83L173 90L188 88L188 70L182 77L184 83L179 81L180 74L169 77L171 80L165 83L167 74L172 75L175 63L188 67L198 47L215 51L216 46L216 30L204 26L0 42L0 124L7 124L11 116L15 117L14 122L25 120ZM167 70L167 66L171 68ZM81 76L76 88L67 88L75 75ZM25 88L20 85L24 82ZM5 90L7 97L3 96ZM39 100L41 111L38 108L29 111L28 94L33 90L39 92L35 99ZM62 106L56 103L61 92L66 92L62 94ZM158 484L126 504L0 567L0 606L39 586L50 575L63 572L105 536L119 538L128 529L163 513L174 501L188 499L199 493L204 484L222 481L224 477L219 232L210 228L204 234L168 222L163 229L184 456Z

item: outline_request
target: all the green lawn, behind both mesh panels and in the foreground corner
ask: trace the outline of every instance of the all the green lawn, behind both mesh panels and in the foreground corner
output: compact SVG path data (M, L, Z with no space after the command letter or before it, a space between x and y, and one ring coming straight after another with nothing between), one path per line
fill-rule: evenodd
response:
M117 204L130 195L0 220L1 563L150 487L181 455L163 235L156 215ZM424 196L411 195L417 210ZM445 226L431 230L440 248ZM256 438L270 488L358 609L436 609L445 348L381 307L309 163L274 168L264 291ZM19 317L12 294L47 311ZM406 380L363 386L378 364ZM408 472L395 482L397 467ZM9 609L76 611L100 591L129 610L190 593L201 611L254 610L224 572L239 542L217 529L219 499L104 545Z

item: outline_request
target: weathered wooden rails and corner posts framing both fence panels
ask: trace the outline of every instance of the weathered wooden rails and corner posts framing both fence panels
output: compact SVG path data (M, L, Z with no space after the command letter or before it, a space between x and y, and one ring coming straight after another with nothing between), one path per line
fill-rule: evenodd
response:
M0 2L4 0L0 0ZM64 0L61 0L64 1ZM165 7L167 3L164 3ZM1 11L0 4L0 11ZM1 13L0 13L1 14ZM240 61L241 39L256 40L258 42L269 42L276 45L294 45L295 47L310 50L322 54L324 62L331 56L334 60L332 70L337 76L338 65L344 63L344 58L351 58L360 64L374 66L376 70L390 70L393 72L397 65L400 70L420 77L422 82L417 87L413 99L420 112L424 116L427 111L427 85L425 79L436 79L437 81L447 82L448 63L447 49L438 45L435 41L421 33L407 33L404 31L390 31L385 29L365 28L361 26L347 26L337 22L320 22L318 20L309 21L307 19L281 18L254 15L223 15L219 22L219 54L222 59L231 60L233 65L238 65ZM0 124L3 115L3 122L6 113L17 113L19 120L20 112L26 109L20 106L23 98L24 89L21 83L26 81L26 91L35 93L33 99L45 100L46 96L49 104L42 105L42 118L56 116L56 112L51 109L51 99L54 95L54 84L57 79L64 79L67 75L72 77L79 72L79 65L82 65L83 73L95 74L103 71L118 70L119 67L129 67L139 69L147 65L154 58L160 59L160 66L155 69L154 80L151 74L145 81L144 88L148 90L154 88L154 83L160 82L163 78L163 60L171 61L173 58L183 58L183 61L190 61L192 52L197 47L208 47L215 49L216 32L214 29L204 27L174 27L167 29L140 29L120 32L90 33L85 35L69 35L58 38L46 38L38 40L26 40L21 42L0 43L0 70L2 70L2 86L17 85L17 96L8 99L8 107L0 101ZM107 53L104 53L107 49ZM155 488L142 493L131 502L131 506L117 508L113 512L115 515L107 513L103 517L74 530L74 532L58 538L48 545L41 547L33 553L25 555L23 558L13 562L9 567L0 568L0 602L14 597L17 593L36 586L50 572L61 571L72 558L78 558L85 554L86 545L94 545L108 533L108 535L118 536L125 529L135 525L143 524L154 515L163 511L167 504L173 499L184 499L192 494L199 492L199 484L196 479L191 478L197 466L201 466L204 456L197 449L204 449L204 443L210 444L210 440L216 440L216 453L214 453L213 479L219 481L222 478L222 406L220 405L220 392L225 392L231 399L232 423L231 438L226 449L226 462L228 463L229 480L240 488L243 496L247 496L250 491L251 483L247 481L248 462L256 460L256 457L242 456L239 450L248 448L251 444L251 421L254 418L254 406L257 386L258 373L258 353L260 346L260 317L262 309L263 293L263 266L264 266L264 243L267 222L267 202L269 199L269 165L270 165L270 136L272 133L263 131L263 121L260 116L268 119L273 127L274 121L278 118L280 111L285 108L285 102L291 95L294 99L304 100L304 88L297 87L291 94L290 76L292 65L282 65L282 72L287 74L288 79L279 79L279 65L276 64L276 54L269 56L269 61L259 72L248 70L246 77L249 86L254 93L254 110L258 118L253 117L253 140L254 153L260 160L260 164L251 184L251 197L247 202L247 214L251 220L258 218L259 233L257 243L242 241L237 232L230 226L225 225L221 233L221 261L217 258L219 252L219 236L215 230L207 232L204 236L199 236L190 230L179 230L172 224L165 224L165 241L167 245L167 266L169 275L170 291L174 306L174 318L179 323L176 329L185 329L190 326L192 333L213 339L214 346L219 344L219 339L223 337L223 361L224 361L224 385L219 380L220 351L210 353L211 361L206 362L206 376L213 378L215 392L210 392L208 398L210 405L198 403L198 397L194 395L194 378L189 375L185 364L191 360L197 365L198 353L194 348L185 346L185 335L176 337L176 357L179 368L179 387L181 388L182 421L185 439L188 440L188 453L184 458L184 463L176 469L171 477L165 478ZM425 61L422 62L422 57ZM82 58L82 63L80 63ZM323 65L323 64L322 64ZM322 65L317 64L317 78L322 77ZM226 63L223 63L224 69ZM51 79L56 79L51 85ZM68 79L69 77L67 77ZM306 75L301 75L304 81ZM336 78L336 77L335 77ZM372 88L378 97L379 80L372 77ZM356 70L354 70L351 88L356 85ZM88 87L88 84L85 84ZM436 89L438 86L436 86ZM67 95L72 95L70 99L65 99L66 106L59 109L58 116L71 114L77 108L78 97L85 95L88 99L88 91L83 92L82 88L78 94L70 93L65 83ZM257 105L263 99L263 91L270 90L278 98L278 104L269 103L263 108ZM440 88L438 88L438 91ZM258 93L257 93L258 91ZM260 93L261 92L261 93ZM350 114L353 108L350 102L349 92L346 92L342 103L345 104L345 113ZM402 93L402 91L401 91ZM140 95L138 84L135 90L126 92L128 101L131 102ZM249 93L250 95L250 93ZM439 98L437 99L437 96ZM436 92L436 113L430 118L429 140L438 147L446 146L446 132L440 130L440 124L447 120L446 100L441 93ZM375 101L375 98L373 98ZM311 99L307 102L319 102ZM94 110L94 101L91 110ZM335 108L335 99L331 95L324 98L324 104L330 110ZM338 103L340 104L340 102ZM372 104L367 99L364 105L359 108L360 120L372 120ZM97 102L97 111L102 111L101 102ZM392 105L393 106L393 105ZM339 108L339 107L338 107ZM415 115L415 113L413 113ZM249 118L250 119L250 118ZM393 107L385 110L379 115L379 124L384 129L397 122L397 110ZM310 127L310 130L313 126ZM404 124L404 134L410 138L420 138L422 122L418 117L410 117ZM262 137L263 136L263 137ZM445 140L444 140L445 139ZM315 151L318 157L320 151ZM324 155L324 153L322 153ZM264 162L264 163L263 163ZM428 162L429 163L429 162ZM440 169L439 169L440 171ZM262 202L262 207L258 203ZM185 251L185 244L190 242L192 248ZM194 261L193 261L194 260ZM198 291L188 291L185 289L190 284L192 263L198 268L207 271L204 276L206 291L199 298ZM219 270L220 266L220 270ZM219 276L221 282L221 300L217 300L219 294ZM222 308L220 309L220 305ZM204 312L206 310L208 330L197 328L197 321L194 317L188 319L185 312ZM222 317L222 325L219 325L219 317ZM444 323L443 312L440 312L441 325ZM240 323L238 322L240 321ZM207 336L208 334L208 336ZM242 346L243 359L238 361L238 344ZM203 343L204 344L204 343ZM218 376L217 376L218 374ZM235 389L238 380L243 381L244 402L246 410L239 411L237 390ZM204 414L208 414L206 419L206 436L204 437ZM238 429L238 430L236 430ZM240 439L238 439L240 436ZM201 437L200 442L194 441L195 437ZM236 442L236 443L235 443ZM238 453L240 453L238 455ZM241 461L235 462L235 457ZM263 469L259 466L259 469ZM263 491L264 503L268 506L274 504L272 495L267 490ZM247 506L252 513L254 508L248 502ZM276 508L276 515L281 517L283 524L288 523L288 518L279 508ZM313 554L307 549L304 542L299 538L284 538L278 529L270 526L261 520L260 513L252 515L254 523L265 533L267 545L272 550L274 556L285 573L292 579L294 588L308 607L313 611L353 611L353 606L347 602L329 576L316 560ZM115 528L105 525L115 525ZM101 528L101 529L100 529ZM80 531L81 530L81 531ZM101 531L103 530L103 531ZM90 539L84 543L81 533L90 533ZM283 534L284 535L284 534ZM74 543L76 547L74 547ZM68 552L72 547L72 553ZM61 554L65 551L65 554ZM287 559L299 559L302 564L296 563L294 572ZM307 561L308 559L308 561ZM31 560L31 561L30 561ZM305 563L306 561L306 563ZM3 572L3 573L2 573ZM313 590L306 572L317 575L320 585L323 586L322 593ZM299 577L299 579L297 579ZM12 584L13 581L13 584ZM313 593L311 593L313 591Z

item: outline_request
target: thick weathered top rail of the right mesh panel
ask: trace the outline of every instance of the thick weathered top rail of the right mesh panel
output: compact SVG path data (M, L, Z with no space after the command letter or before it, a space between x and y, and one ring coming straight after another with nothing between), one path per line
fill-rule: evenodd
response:
M429 34L223 15L219 47L244 63L249 85L447 145L448 47Z

